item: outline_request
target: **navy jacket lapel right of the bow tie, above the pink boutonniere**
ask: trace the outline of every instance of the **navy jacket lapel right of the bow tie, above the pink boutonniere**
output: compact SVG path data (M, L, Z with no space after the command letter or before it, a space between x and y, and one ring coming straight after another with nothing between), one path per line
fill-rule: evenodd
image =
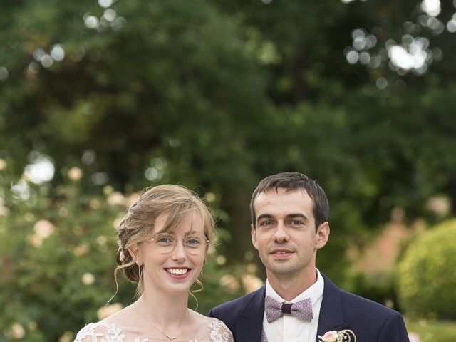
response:
M334 285L324 274L325 287L321 301L320 317L318 318L318 336L323 336L326 331L339 331L348 328L343 317L343 304L341 290Z

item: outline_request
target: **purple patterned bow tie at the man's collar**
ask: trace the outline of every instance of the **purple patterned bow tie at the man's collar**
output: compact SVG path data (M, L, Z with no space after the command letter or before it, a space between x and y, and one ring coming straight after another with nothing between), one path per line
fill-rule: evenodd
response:
M302 321L311 322L314 316L312 315L312 301L306 298L297 303L280 303L270 296L264 299L264 310L266 311L266 319L268 323L274 322L283 314L292 314Z

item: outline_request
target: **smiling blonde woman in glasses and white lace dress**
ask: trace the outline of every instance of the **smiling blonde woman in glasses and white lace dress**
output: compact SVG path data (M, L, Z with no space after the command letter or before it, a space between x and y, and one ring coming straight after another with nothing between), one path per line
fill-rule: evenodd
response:
M233 342L222 321L187 308L213 239L214 220L197 195L178 185L147 190L118 228L115 274L138 283L139 298L86 325L75 342Z

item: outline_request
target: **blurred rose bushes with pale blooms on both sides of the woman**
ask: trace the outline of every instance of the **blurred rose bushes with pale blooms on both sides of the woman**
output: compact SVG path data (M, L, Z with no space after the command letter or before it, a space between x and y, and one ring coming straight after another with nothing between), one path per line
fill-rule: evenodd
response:
M10 168L3 167L0 341L71 341L86 323L134 300L135 287L122 276L115 294L113 276L115 224L131 199L110 185L103 193L87 195L86 177L76 168L64 170L58 187L24 182L22 192L11 192ZM215 251L207 258L204 290L195 294L202 314L261 285L254 264L227 266L226 261ZM196 306L192 297L189 306Z

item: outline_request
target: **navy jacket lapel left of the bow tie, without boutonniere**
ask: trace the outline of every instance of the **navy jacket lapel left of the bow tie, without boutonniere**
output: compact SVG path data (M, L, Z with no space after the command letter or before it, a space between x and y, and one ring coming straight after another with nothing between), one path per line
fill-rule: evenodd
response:
M261 342L266 287L256 291L236 321L236 342Z

